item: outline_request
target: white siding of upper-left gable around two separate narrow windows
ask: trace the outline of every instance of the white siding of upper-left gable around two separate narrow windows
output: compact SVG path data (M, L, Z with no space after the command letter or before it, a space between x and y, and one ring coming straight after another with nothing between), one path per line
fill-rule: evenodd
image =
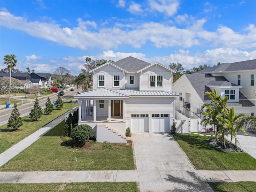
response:
M93 89L101 88L98 87L98 76L104 75L104 87L106 88L116 88L116 89L124 89L125 76L122 70L112 66L106 65L99 70L95 71L93 75ZM114 75L120 76L120 82L118 87L114 87Z

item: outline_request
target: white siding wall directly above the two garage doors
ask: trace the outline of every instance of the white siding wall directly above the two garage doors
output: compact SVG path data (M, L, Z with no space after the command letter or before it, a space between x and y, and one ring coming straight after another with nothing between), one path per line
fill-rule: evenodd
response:
M130 119L131 114L169 114L174 118L174 97L130 97L125 108L126 119Z

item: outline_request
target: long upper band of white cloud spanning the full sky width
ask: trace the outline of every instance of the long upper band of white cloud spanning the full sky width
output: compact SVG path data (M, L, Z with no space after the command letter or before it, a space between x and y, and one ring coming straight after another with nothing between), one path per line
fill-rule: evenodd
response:
M186 15L177 17L185 20ZM61 28L56 22L28 22L26 18L14 16L10 12L0 12L0 23L7 28L27 32L31 36L50 40L57 44L75 47L82 50L100 48L109 50L118 46L141 48L146 43L156 48L176 47L188 48L210 43L215 47L255 48L256 28L254 24L242 32L235 32L226 26L220 26L214 31L204 29L206 19L189 18L187 28L178 28L170 24L157 22L121 21L113 27L103 27L95 30L94 21L83 21L78 18L78 27ZM92 27L90 30L89 26ZM30 59L30 58L29 58Z

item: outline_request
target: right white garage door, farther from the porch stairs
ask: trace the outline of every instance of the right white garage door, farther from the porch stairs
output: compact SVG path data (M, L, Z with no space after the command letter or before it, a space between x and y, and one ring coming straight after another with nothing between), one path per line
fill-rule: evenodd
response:
M170 118L168 114L152 114L152 132L170 132Z

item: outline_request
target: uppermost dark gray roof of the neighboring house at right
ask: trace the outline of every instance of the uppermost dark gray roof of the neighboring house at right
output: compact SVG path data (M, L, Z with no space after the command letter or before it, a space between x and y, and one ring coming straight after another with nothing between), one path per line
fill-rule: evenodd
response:
M196 73L206 74L206 73L214 73L214 72L231 72L231 71L245 71L245 70L256 70L256 59L234 62L234 63L222 63L220 65L206 68Z

